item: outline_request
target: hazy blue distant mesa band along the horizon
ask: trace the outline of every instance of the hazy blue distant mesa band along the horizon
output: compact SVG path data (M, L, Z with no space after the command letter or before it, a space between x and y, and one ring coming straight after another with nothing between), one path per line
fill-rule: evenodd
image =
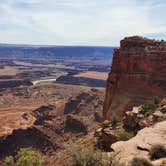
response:
M110 59L115 47L95 46L40 46L40 45L16 45L0 44L0 58L88 58Z

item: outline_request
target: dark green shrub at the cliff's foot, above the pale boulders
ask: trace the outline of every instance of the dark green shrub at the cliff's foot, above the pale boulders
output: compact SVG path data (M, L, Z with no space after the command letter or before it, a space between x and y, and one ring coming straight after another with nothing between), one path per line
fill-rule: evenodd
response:
M142 105L141 113L145 114L145 115L149 115L155 111L156 106L157 105L155 104L154 100L152 100L152 101L148 100Z

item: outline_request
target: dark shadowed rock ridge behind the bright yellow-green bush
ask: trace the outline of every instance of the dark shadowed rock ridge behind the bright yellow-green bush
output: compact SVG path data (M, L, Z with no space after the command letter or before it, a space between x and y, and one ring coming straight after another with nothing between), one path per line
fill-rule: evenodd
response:
M49 155L57 148L57 145L36 127L14 130L1 142L0 146L0 159L7 155L14 156L20 148L31 147Z

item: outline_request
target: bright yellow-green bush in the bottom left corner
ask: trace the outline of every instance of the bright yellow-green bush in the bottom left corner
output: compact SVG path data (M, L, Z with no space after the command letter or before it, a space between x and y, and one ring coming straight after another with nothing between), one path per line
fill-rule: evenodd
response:
M42 166L42 160L36 151L22 148L18 152L16 162L9 156L4 159L3 166Z

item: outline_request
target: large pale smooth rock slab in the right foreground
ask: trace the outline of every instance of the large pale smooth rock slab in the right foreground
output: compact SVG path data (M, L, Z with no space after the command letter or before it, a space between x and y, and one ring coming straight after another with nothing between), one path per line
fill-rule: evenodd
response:
M133 157L149 159L149 150L153 145L162 144L166 147L166 121L146 127L128 141L112 144L111 148L121 156L121 161L128 163Z

